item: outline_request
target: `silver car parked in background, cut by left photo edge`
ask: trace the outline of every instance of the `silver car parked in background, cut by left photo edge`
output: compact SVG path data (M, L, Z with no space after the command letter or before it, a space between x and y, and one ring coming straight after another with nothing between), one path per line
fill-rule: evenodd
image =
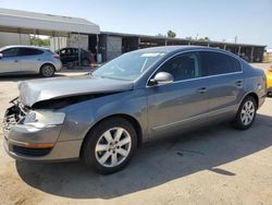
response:
M40 74L45 77L60 71L59 55L47 48L34 46L7 46L0 48L0 75Z

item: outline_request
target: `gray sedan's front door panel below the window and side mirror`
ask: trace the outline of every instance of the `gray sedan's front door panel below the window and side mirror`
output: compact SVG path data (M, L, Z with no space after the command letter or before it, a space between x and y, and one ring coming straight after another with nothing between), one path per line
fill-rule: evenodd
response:
M176 82L148 87L148 121L151 137L175 134L186 126L206 121L208 111L206 80Z

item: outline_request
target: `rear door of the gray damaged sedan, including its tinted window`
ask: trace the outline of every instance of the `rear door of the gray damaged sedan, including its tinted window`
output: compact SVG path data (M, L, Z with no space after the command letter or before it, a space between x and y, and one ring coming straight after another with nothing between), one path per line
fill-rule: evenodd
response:
M203 76L209 79L209 113L222 118L231 114L244 96L244 77L239 61L217 51L200 52Z

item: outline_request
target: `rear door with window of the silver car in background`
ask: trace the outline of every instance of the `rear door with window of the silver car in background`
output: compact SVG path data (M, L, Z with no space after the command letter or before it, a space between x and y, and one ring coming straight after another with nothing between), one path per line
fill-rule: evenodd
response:
M42 50L35 48L18 48L18 61L21 71L25 73L38 73L42 63Z

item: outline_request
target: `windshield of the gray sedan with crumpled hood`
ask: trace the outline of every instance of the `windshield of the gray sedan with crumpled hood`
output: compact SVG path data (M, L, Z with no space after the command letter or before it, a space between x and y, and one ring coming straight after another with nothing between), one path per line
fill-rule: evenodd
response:
M134 81L163 55L163 52L127 52L98 68L92 75Z

